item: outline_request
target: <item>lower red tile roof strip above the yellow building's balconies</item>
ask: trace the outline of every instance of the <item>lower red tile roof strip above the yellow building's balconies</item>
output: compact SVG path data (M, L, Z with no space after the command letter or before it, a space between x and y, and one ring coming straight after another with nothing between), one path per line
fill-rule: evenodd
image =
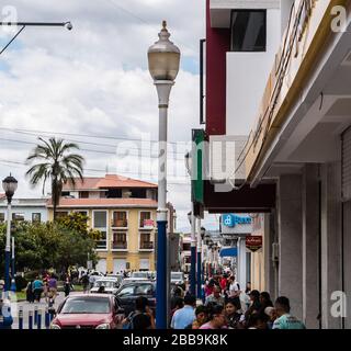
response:
M52 201L48 207L53 207ZM150 199L60 199L63 207L155 207L157 201Z

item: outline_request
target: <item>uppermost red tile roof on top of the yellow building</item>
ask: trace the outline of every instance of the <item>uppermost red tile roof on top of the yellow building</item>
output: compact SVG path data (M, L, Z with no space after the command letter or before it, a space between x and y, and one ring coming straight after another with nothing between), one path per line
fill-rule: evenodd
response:
M64 191L76 190L99 190L106 188L157 188L157 184L144 182L141 180L125 178L117 174L106 174L104 178L84 178L81 182L80 179L76 179L76 186L68 183L64 185Z

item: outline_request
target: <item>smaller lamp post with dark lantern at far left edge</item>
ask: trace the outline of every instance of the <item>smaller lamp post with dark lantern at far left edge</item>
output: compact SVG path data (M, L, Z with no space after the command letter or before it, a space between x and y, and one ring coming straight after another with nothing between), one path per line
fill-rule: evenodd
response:
M10 261L11 261L11 202L18 189L18 181L11 174L2 181L2 188L8 199L7 244L4 248L4 291L10 290Z

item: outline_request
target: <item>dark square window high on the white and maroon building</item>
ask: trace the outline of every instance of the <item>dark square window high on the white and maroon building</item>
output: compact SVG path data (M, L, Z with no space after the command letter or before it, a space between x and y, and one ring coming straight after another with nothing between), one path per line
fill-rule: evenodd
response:
M231 52L265 52L267 11L235 10L231 12Z

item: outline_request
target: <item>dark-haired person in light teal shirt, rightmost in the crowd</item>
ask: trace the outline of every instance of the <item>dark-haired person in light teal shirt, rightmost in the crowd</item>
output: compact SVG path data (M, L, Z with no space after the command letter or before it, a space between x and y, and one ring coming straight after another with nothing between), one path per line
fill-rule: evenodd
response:
M274 320L273 329L306 329L306 326L290 314L290 301L285 296L278 297L274 304L278 319Z

